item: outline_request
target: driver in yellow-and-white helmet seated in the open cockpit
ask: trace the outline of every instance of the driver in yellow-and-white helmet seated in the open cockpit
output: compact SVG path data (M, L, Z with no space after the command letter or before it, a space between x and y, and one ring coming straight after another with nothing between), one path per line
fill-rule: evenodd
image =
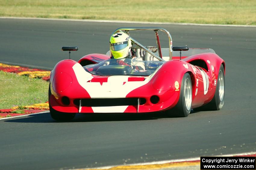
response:
M145 70L145 66L141 57L134 56L132 49L132 42L128 34L118 32L110 37L110 52L111 58L117 59L119 65L127 65L134 70ZM127 60L131 59L131 60ZM129 61L131 62L129 64Z

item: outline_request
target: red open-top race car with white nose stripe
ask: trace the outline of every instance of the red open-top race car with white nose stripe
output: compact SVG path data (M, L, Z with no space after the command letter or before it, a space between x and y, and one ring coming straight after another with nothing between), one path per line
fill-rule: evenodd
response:
M135 58L125 61L89 54L79 61L62 60L51 72L49 107L55 120L76 113L147 113L165 111L187 117L194 110L219 110L224 103L225 62L212 49L173 47L163 28L118 28L112 35L151 30L157 47L130 37ZM158 32L169 39L161 48ZM77 47L62 47L66 51ZM139 69L138 69L139 68Z

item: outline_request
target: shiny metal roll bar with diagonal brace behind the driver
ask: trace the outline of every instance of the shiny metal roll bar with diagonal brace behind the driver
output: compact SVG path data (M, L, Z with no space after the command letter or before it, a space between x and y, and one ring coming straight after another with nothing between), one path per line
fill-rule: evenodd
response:
M158 31L163 31L165 32L167 35L168 35L168 38L169 38L169 60L172 59L172 45L173 45L173 41L172 41L172 37L170 35L170 33L164 29L164 28L158 28L158 27L121 27L121 28L117 28L115 31L113 31L113 34L116 34L117 32L119 31L126 31L126 33L129 33L129 31L131 30L153 30L155 31L156 33L158 33ZM152 56L154 56L155 58L157 58L158 60L160 61L165 61L164 59L162 59L162 55L161 55L161 46L160 46L160 42L159 42L159 37L158 37L158 34L156 34L156 42L157 42L157 46L158 46L158 52L159 52L159 56L158 57L157 55L155 55L153 52L151 52L149 49L147 49L145 46L143 46L141 43L139 43L138 41L136 41L135 39L133 39L132 37L130 37L131 41L135 44L137 44L139 47L141 47L142 49L144 49L146 52L148 52L149 54L151 54Z

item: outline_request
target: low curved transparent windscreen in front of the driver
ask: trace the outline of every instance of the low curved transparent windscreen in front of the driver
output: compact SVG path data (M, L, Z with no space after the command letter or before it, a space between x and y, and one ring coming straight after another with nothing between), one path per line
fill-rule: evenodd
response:
M149 76L162 64L164 64L162 61L137 61L128 58L112 58L98 64L84 66L83 68L87 72L98 76Z

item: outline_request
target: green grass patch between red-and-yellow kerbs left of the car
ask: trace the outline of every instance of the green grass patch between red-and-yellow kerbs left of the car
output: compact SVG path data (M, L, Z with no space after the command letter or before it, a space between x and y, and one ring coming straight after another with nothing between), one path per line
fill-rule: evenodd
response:
M27 106L48 101L49 83L0 71L0 109Z

